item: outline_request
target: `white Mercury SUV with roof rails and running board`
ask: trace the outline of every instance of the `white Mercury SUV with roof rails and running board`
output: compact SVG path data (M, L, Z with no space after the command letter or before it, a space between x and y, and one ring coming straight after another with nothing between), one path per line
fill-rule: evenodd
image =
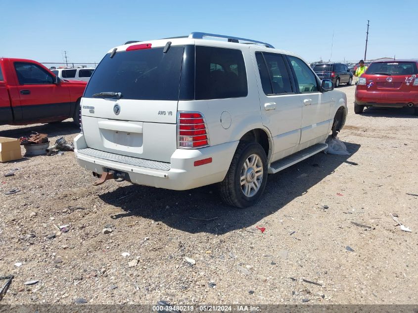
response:
M346 103L302 58L266 43L191 33L121 45L86 88L75 151L95 184L219 183L227 203L247 207L268 174L327 147Z

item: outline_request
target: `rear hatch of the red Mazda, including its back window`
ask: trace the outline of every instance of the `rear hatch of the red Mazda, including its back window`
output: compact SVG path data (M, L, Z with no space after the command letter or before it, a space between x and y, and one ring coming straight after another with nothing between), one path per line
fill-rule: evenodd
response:
M416 62L372 63L362 77L367 91L410 92L418 75Z

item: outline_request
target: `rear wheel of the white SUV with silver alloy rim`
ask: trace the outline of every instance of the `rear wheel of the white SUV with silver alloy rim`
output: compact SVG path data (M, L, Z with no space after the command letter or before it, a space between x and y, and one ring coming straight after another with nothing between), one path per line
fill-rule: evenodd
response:
M267 183L267 157L257 142L241 142L236 148L230 169L220 182L222 199L228 204L246 208L263 194Z

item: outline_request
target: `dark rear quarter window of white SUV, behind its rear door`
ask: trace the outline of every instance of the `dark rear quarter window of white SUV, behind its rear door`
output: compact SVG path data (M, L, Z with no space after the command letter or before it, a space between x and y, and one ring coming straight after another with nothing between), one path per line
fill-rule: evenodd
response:
M247 74L240 50L197 45L195 71L196 100L247 95Z

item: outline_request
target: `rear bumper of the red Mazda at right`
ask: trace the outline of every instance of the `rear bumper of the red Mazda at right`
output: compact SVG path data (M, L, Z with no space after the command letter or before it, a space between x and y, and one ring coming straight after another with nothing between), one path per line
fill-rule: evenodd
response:
M355 101L366 106L404 107L409 103L418 106L418 92L356 90Z

